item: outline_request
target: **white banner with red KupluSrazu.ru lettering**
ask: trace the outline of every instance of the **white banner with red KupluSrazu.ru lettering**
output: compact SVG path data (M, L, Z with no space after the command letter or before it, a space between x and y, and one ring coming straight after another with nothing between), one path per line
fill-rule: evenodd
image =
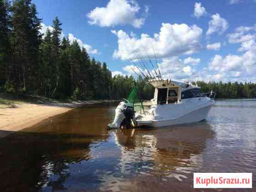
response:
M194 173L194 188L252 188L252 173Z

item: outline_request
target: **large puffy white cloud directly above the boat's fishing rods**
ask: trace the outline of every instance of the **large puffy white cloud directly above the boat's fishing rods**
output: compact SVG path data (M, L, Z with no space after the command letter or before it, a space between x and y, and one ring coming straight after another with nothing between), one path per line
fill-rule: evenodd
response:
M200 38L203 30L196 25L188 26L184 23L162 23L160 32L155 33L154 37L143 33L140 38L136 38L122 30L111 32L118 37L118 50L114 51L113 57L122 60L136 59L138 54L146 58L146 51L150 58L154 58L154 52L157 58L192 54L202 47Z

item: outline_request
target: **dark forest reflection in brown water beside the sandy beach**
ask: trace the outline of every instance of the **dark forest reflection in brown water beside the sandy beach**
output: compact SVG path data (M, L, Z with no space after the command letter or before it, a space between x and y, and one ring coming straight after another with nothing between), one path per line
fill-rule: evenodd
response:
M108 139L108 110L74 110L0 139L1 191L66 189L72 171L80 170L72 166L91 160L92 145Z

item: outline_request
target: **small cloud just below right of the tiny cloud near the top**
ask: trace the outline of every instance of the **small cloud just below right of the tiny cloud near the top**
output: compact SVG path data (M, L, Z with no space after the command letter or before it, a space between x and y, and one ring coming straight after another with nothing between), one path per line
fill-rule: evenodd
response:
M224 18L220 17L218 13L212 15L212 20L209 21L209 28L206 35L209 36L214 32L218 32L221 35L229 27L229 23Z

